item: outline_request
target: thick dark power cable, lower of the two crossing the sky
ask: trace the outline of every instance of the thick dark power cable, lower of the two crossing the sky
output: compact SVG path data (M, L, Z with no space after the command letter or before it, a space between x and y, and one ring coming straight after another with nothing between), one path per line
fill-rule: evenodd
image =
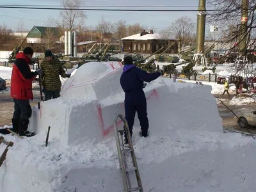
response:
M129 10L129 9L100 9L100 8L48 8L48 7L32 7L32 6L0 6L0 8L13 8L13 9L31 9L31 10L80 10L80 11L106 11L106 12L197 12L198 10ZM207 12L216 12L223 10L207 10ZM230 10L225 10L230 11Z

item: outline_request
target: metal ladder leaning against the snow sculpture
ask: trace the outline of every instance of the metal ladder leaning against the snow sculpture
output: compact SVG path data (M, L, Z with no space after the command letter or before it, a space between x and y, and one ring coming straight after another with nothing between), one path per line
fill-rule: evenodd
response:
M124 122L124 129L122 129L122 130L118 130L118 128L117 128L118 118L120 118ZM124 118L123 115L118 115L114 122L114 126L115 126L116 147L117 147L117 152L118 152L118 157L119 157L119 162L120 162L120 169L122 172L122 179L124 182L124 191L125 192L129 192L129 191L143 192L141 179L140 179L140 173L138 170L138 164L137 164L136 156L134 154L134 149L132 146L132 140L131 140L131 135L130 135L130 131L128 128L127 120ZM129 148L124 148L124 145L123 145L124 132L126 132L126 135L127 135L127 139L129 142ZM127 166L127 161L126 161L126 156L129 153L131 154L132 164L133 164L133 167L131 167L131 168L129 168ZM134 187L134 188L132 188L132 186L131 186L131 180L129 177L129 172L132 172L132 171L135 172L136 180L137 180L137 184L138 184L138 187Z

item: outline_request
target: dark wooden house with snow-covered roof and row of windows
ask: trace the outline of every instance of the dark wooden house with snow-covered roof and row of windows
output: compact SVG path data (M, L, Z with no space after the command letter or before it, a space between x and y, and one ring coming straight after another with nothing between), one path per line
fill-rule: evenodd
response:
M161 49L161 47L167 47L175 42L175 44L170 47L166 53L178 53L178 40L163 38L160 34L153 33L153 30L150 30L150 32L143 30L141 33L127 36L121 40L124 45L124 52L152 54L153 52Z

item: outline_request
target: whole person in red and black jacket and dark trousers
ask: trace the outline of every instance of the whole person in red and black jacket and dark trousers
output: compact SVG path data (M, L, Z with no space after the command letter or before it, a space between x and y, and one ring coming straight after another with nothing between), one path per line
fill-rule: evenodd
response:
M32 81L41 74L41 70L31 72L29 63L34 51L31 47L26 47L23 52L16 55L12 68L11 97L14 101L14 112L12 118L13 131L20 136L33 136L35 132L29 132L29 118L32 109L29 100L33 100Z

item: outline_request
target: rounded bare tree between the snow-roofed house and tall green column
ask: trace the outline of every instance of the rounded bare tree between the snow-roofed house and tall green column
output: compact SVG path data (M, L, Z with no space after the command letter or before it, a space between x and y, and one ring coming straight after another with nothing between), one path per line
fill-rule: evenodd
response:
M179 47L188 45L191 39L191 35L195 33L195 22L188 16L180 17L175 20L170 30L172 31L175 38L179 40Z

